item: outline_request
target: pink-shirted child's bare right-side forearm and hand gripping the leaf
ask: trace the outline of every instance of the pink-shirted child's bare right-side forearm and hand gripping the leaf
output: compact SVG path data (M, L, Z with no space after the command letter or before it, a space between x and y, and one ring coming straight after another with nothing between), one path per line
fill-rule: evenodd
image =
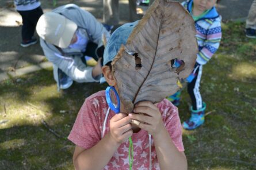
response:
M153 136L161 169L187 169L186 156L184 152L179 152L173 144L170 134L163 124L158 107L151 102L139 102L133 111L145 114L129 114L129 117L140 121L139 127L147 130Z

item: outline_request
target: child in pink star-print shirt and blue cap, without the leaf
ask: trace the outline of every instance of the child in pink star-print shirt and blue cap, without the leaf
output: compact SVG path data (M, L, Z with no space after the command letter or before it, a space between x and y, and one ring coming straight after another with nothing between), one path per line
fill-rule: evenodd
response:
M102 72L109 86L116 89L117 82L110 66L116 55L108 55L108 49L116 49L117 53L118 46L125 44L136 24L137 22L128 23L118 28L106 46ZM109 44L115 47L108 47ZM128 137L132 137L134 145L133 169L149 169L150 161L152 169L186 169L178 110L167 99L157 105L139 102L133 113L129 114L125 113L123 105L119 114L110 111L106 117L106 110L108 104L105 91L100 91L87 98L79 111L68 136L76 145L73 156L76 169L129 169ZM105 119L106 129L102 127ZM132 119L140 121L139 126L131 124ZM103 129L105 132L102 132ZM154 139L151 144L148 133Z

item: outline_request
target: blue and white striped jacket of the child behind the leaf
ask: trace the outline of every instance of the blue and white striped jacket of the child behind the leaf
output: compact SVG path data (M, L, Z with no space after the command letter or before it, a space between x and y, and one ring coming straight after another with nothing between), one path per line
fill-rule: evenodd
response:
M193 0L181 3L189 13L192 13L192 4ZM198 64L204 65L220 46L221 16L219 16L216 8L213 6L204 17L194 21L194 24L196 26L199 50L196 61Z

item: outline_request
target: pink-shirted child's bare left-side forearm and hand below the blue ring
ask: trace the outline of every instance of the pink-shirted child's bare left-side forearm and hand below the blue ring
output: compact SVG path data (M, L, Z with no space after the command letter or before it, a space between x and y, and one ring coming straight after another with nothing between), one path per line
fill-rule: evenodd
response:
M85 150L75 146L73 163L75 169L104 169L117 148L132 136L131 118L119 113L110 119L110 132L92 148Z

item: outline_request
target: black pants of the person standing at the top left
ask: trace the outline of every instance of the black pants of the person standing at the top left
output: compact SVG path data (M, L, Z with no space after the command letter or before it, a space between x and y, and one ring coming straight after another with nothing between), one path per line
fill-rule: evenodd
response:
M31 40L34 35L36 24L41 15L43 14L43 10L41 6L37 7L33 10L28 11L18 11L22 17L22 29L21 29L21 37L23 41Z

